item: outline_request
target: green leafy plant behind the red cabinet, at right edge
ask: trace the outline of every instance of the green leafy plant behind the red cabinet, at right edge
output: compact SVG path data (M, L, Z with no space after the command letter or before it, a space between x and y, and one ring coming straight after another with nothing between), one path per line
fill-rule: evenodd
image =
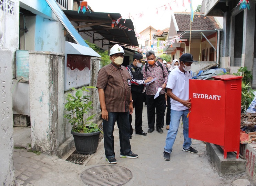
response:
M251 88L250 81L253 78L253 75L250 71L247 70L246 67L240 67L236 73L233 73L233 75L239 75L242 76L242 99L241 99L241 106L242 106L242 112L245 111L250 105L250 103L253 101L254 94L253 89Z

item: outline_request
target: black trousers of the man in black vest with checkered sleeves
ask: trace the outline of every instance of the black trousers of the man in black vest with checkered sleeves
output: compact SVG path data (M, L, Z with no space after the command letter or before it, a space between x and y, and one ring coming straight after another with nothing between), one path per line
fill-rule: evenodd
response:
M133 107L135 111L135 132L142 132L142 110L143 110L143 95L142 92L132 91ZM132 115L129 116L130 135L132 135Z

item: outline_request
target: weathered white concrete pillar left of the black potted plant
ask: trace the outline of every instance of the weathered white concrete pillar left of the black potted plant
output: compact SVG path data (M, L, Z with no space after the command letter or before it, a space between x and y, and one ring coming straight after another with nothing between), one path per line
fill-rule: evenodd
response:
M63 54L30 51L29 89L31 146L56 154L58 141L58 64Z

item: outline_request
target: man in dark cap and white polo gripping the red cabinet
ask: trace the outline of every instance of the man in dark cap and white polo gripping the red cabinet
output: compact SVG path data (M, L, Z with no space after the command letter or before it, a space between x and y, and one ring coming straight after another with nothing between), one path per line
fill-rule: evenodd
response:
M171 122L168 130L165 147L164 160L170 160L172 147L176 139L180 120L183 122L184 143L182 150L190 153L197 153L191 147L191 138L188 137L188 109L191 107L188 97L189 80L191 79L191 64L196 62L191 54L183 54L180 57L180 66L171 71L166 85L167 95L171 97Z

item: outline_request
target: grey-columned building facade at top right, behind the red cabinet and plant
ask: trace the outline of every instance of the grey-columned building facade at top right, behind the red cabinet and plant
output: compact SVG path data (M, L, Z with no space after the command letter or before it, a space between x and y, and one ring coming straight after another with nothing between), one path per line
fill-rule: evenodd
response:
M255 0L248 2L250 9L240 9L239 1L235 0L203 0L201 12L206 16L223 17L221 67L230 68L231 73L237 72L240 67L247 67L253 74L252 86L255 88Z

